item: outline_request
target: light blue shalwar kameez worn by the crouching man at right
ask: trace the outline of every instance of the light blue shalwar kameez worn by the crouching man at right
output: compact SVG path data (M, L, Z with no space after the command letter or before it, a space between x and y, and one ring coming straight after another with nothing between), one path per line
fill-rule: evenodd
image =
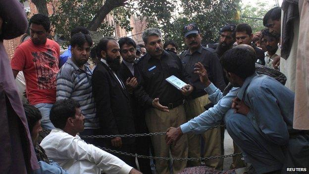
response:
M184 133L206 131L224 119L228 133L258 174L276 170L282 170L284 174L288 173L286 168L309 170L308 132L292 128L292 91L269 76L257 74L248 77L241 88L233 88L224 97L213 84L205 90L209 100L217 104L182 124ZM250 108L247 116L235 114L230 109L236 95Z

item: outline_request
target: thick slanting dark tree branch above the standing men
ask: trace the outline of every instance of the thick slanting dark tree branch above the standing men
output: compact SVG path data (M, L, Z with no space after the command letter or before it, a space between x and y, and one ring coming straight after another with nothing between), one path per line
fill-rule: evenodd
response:
M98 28L101 26L103 20L105 19L106 15L114 8L123 6L127 0L106 0L103 6L100 8L96 16L88 25L88 30L90 31L97 31Z

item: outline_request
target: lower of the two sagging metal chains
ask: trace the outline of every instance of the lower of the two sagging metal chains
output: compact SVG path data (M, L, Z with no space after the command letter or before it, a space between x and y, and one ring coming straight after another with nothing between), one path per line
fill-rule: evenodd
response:
M121 152L121 151L116 151L116 150L112 150L112 149L108 149L105 147L100 147L97 146L100 149L106 151L106 152L111 152L111 153L116 153L116 154L120 154L120 155L126 155L126 156L131 156L131 157L137 157L137 158L147 158L147 159L154 159L154 160L173 160L173 161L196 161L196 160L212 160L212 159L220 159L220 158L228 158L228 157L235 157L238 155L241 155L242 153L236 153L236 154L230 154L230 155L221 155L221 156L213 156L213 157L201 157L201 158L169 158L169 157L151 157L151 156L145 156L145 155L138 155L138 154L132 154L132 153L127 153L127 152Z

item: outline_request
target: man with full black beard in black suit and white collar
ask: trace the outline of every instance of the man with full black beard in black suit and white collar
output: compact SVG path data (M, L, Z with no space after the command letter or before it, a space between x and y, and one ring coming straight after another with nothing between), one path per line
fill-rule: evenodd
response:
M134 118L129 94L121 76L120 48L114 38L105 37L97 46L97 56L101 58L93 71L92 85L97 116L103 134L134 134ZM135 138L114 137L104 139L104 146L117 151L135 154ZM130 166L136 167L135 158L115 154Z

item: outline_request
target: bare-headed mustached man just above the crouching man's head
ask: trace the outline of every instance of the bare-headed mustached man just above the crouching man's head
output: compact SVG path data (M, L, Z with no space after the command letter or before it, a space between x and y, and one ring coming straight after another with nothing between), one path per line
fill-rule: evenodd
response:
M261 65L265 65L264 52L252 44L253 33L251 26L245 23L238 24L236 26L235 33L237 44L246 44L252 46L257 54L256 61Z

